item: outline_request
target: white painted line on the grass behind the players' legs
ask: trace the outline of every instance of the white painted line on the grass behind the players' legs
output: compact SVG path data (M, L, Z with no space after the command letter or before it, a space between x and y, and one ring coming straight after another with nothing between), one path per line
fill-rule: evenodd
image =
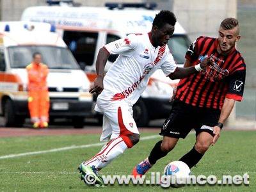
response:
M151 140L154 138L159 138L159 135L153 135L153 136L145 136L143 138L140 138L141 141L143 140ZM88 145L72 145L69 147L61 147L61 148L52 148L49 150L40 150L40 151L35 151L35 152L26 152L26 153L22 153L22 154L10 154L7 156L0 156L0 159L10 159L10 158L14 158L14 157L22 157L22 156L31 156L31 155L36 155L36 154L47 154L47 153L51 153L51 152L59 152L59 151L63 151L63 150L72 150L75 148L88 148L88 147L96 147L96 146L102 146L105 143L93 143L93 144L88 144Z

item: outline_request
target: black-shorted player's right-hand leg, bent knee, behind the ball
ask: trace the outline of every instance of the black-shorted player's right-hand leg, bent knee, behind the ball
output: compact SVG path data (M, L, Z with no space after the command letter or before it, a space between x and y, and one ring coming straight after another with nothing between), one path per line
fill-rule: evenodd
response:
M188 164L189 168L195 166L209 149L214 137L213 127L220 117L218 109L198 109L198 125L196 125L196 143L194 147L179 160Z

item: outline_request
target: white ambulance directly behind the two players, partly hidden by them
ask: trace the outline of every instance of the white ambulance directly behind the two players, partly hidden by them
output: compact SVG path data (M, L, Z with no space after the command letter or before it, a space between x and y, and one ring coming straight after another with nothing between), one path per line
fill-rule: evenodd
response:
M56 1L54 1L56 3ZM79 65L84 68L90 81L95 78L95 62L101 47L131 33L148 33L156 13L154 4L107 3L105 7L72 6L51 4L26 8L21 20L48 22L56 25ZM179 22L168 43L177 64L184 63L190 41ZM117 55L109 56L106 70ZM134 119L138 126L146 126L153 119L166 118L170 114L173 87L172 81L157 70L148 82L138 102L134 105Z

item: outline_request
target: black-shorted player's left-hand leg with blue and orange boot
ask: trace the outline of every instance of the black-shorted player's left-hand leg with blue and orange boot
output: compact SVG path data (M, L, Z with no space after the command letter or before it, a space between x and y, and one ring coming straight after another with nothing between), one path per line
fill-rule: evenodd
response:
M170 152L179 138L185 138L191 130L189 115L191 113L190 108L187 108L186 104L180 102L174 102L171 115L164 122L161 135L163 135L163 141L158 141L152 148L150 155L132 170L132 175L144 175L158 159L166 156Z

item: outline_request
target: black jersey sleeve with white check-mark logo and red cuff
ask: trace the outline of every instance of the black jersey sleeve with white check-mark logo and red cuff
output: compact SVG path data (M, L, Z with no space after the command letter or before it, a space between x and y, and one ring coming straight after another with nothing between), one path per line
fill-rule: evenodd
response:
M237 101L241 101L243 99L245 74L245 70L238 70L230 76L228 92L226 95L228 99L234 99Z

